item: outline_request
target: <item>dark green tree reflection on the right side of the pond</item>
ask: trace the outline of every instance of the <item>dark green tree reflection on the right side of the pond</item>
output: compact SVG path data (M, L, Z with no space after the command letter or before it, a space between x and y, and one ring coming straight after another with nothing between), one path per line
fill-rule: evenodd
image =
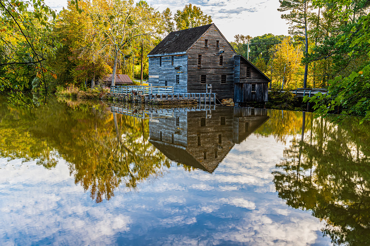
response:
M279 197L324 219L322 231L335 244L369 245L370 124L306 118L312 124L293 138L273 173Z

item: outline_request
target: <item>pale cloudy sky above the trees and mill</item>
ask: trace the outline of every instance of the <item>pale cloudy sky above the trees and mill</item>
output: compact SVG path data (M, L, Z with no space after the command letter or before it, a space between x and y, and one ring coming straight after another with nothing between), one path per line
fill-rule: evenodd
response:
M169 7L172 14L182 10L185 4L193 4L201 8L203 13L211 15L222 34L229 42L234 41L234 35L243 34L256 37L266 33L287 35L289 25L280 18L277 11L278 0L147 0L159 11ZM67 0L45 0L49 7L59 12L67 7Z

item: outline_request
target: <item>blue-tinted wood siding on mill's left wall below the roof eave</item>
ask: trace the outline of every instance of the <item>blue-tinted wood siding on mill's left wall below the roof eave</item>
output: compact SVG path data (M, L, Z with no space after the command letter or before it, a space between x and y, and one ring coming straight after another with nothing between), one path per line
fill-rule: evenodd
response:
M186 93L188 81L188 56L174 55L174 65L170 56L162 56L162 66L159 66L159 56L149 57L149 84L152 86L174 86L174 93ZM175 67L181 66L179 70ZM176 84L179 75L179 84Z

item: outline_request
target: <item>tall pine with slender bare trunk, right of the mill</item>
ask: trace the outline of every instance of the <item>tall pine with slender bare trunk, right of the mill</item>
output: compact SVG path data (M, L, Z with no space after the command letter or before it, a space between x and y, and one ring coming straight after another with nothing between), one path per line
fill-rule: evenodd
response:
M308 58L308 22L312 5L310 0L279 0L280 12L290 11L289 14L282 14L281 18L290 21L290 34L305 37L305 58ZM305 77L303 87L307 87L308 63L305 61Z

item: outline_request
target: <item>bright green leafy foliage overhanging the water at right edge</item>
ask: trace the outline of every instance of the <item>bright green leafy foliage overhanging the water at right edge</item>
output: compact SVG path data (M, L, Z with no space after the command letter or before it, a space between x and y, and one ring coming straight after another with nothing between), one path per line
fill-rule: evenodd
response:
M349 75L330 80L326 95L317 94L304 100L315 103L317 115L326 116L335 110L340 113L337 119L341 120L347 115L357 114L363 117L361 124L370 119L370 14L364 11L370 3L340 0L331 4L329 12L344 24L343 32L336 36L333 46L349 58L356 59L367 54L367 59L353 66ZM317 1L315 6L326 6L326 2ZM337 63L341 64L340 61Z

